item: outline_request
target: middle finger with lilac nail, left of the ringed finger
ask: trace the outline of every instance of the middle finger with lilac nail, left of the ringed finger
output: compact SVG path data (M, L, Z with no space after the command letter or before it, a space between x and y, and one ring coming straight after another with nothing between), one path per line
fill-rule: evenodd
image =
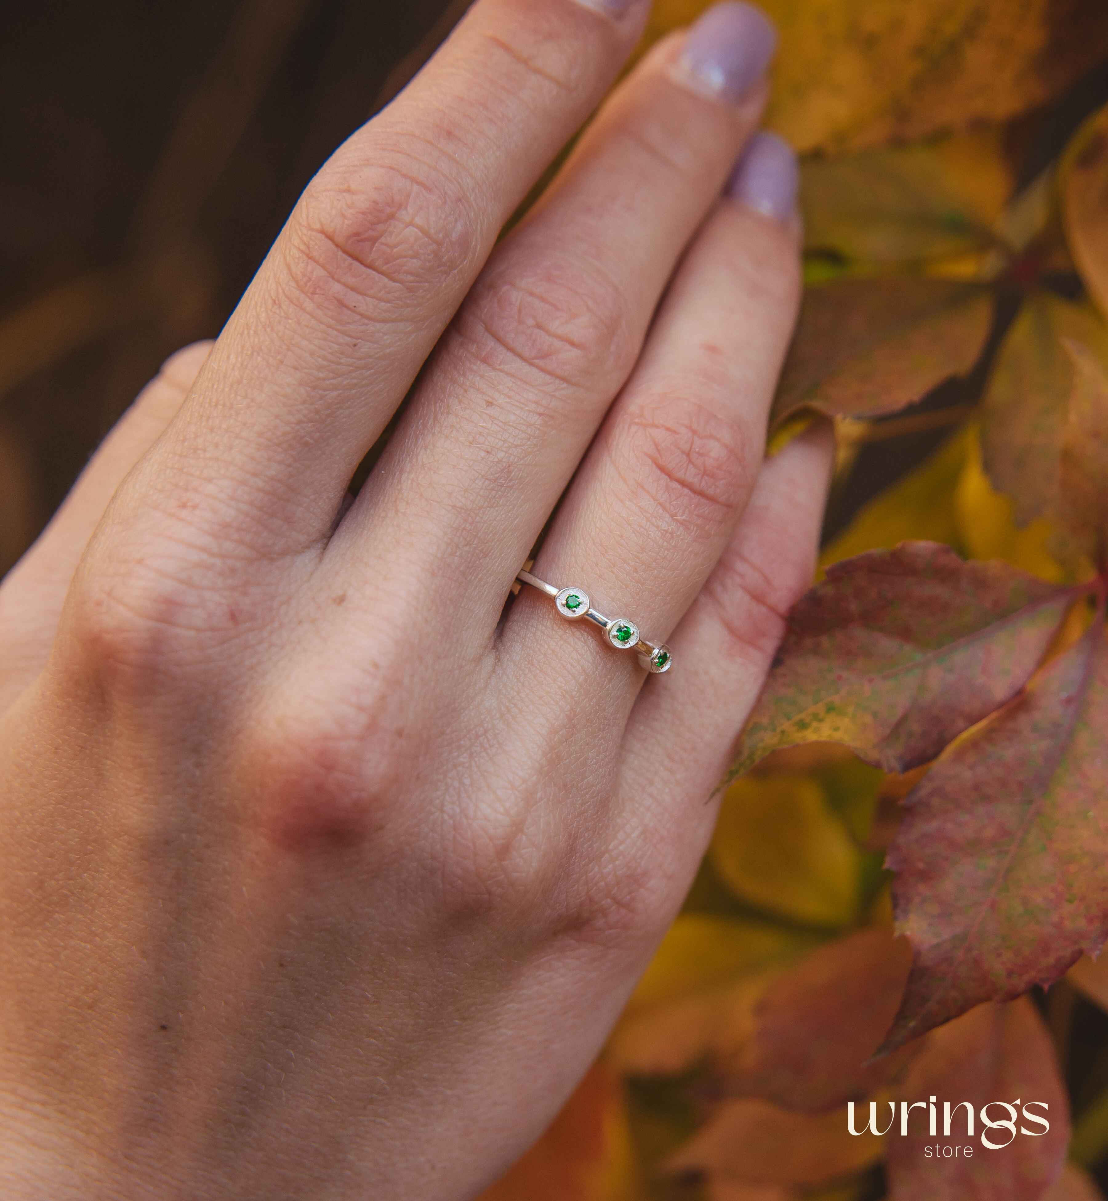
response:
M756 124L773 47L761 12L719 5L617 90L443 340L331 543L340 574L403 545L426 590L465 579L491 632Z

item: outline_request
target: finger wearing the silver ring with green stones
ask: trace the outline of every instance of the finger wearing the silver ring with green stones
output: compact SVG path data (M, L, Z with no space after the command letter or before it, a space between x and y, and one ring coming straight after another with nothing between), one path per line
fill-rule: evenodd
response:
M609 413L534 570L585 587L609 617L663 641L723 552L762 461L766 414L799 295L796 161L759 135L675 277L635 374ZM525 590L531 591L531 590ZM552 616L525 597L509 645ZM603 639L558 632L564 670L595 677ZM617 674L618 675L618 674ZM641 676L629 671L624 697Z

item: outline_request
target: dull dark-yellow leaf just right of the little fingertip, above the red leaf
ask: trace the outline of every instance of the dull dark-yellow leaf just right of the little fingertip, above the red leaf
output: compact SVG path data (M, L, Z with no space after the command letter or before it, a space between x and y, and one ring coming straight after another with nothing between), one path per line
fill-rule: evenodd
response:
M820 556L826 568L867 550L891 550L909 539L945 542L962 549L954 489L965 467L971 436L960 431L929 459L863 506Z

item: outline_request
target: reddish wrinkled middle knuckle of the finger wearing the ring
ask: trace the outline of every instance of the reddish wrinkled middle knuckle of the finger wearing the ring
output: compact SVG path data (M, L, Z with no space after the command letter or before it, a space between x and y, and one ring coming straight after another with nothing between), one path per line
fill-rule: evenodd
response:
M738 424L685 398L641 406L624 428L616 462L665 520L685 531L730 515L753 479Z

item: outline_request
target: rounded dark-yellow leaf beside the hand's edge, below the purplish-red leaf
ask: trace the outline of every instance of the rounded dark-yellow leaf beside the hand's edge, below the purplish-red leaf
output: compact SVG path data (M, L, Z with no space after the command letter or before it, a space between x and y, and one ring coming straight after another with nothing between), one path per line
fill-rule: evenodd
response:
M861 853L805 776L748 776L724 797L709 850L726 886L768 913L845 926L858 913Z

